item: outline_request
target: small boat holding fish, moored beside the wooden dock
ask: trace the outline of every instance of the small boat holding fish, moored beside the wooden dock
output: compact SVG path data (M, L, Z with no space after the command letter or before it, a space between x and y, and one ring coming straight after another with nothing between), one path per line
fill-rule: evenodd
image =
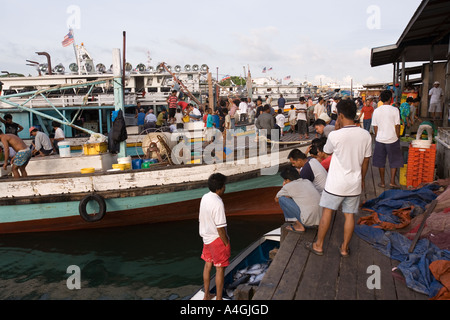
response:
M270 252L280 247L281 229L273 230L239 253L225 269L224 300L234 299L234 290L241 284L257 287L271 263ZM211 278L210 293L216 294L215 276ZM191 300L203 300L204 288Z

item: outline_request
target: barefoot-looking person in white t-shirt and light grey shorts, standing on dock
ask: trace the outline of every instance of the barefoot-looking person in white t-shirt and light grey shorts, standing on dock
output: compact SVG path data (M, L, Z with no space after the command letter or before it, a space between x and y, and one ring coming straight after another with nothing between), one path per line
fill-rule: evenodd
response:
M338 122L342 128L330 133L324 147L324 152L332 154L333 158L320 199L323 212L317 241L307 242L305 247L312 253L323 256L323 244L333 213L342 205L345 215L344 241L339 252L342 257L348 257L348 245L355 228L354 215L359 212L365 176L372 156L372 138L368 131L355 126L357 108L352 100L339 102L337 109Z

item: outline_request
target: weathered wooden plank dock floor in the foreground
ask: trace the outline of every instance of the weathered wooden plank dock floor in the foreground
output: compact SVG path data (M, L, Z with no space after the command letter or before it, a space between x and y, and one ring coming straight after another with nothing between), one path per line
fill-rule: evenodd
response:
M386 181L389 170L386 170ZM374 199L385 190L376 168L369 167L366 192L362 201ZM362 215L362 213L360 213ZM357 217L358 218L358 217ZM350 243L351 255L341 258L344 215L335 214L325 240L322 257L304 248L305 241L314 241L317 229L299 235L282 227L282 244L253 300L427 300L408 287L392 269L399 262L391 260L354 235ZM371 290L367 281L372 272L369 266L381 269L381 289Z

